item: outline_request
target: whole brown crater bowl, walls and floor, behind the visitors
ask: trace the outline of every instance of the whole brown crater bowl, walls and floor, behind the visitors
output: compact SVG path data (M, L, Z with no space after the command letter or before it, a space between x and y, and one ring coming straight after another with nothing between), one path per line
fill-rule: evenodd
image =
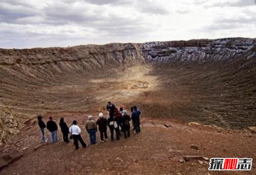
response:
M113 99L148 117L255 126L255 65L256 39L243 38L0 49L0 142L39 113Z

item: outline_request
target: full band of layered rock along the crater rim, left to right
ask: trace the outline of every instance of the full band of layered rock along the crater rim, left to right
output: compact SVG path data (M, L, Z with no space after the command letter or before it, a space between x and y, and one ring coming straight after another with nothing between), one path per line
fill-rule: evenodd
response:
M0 65L47 66L88 70L145 62L212 62L256 56L256 39L197 39L189 41L148 42L142 44L81 45L34 49L0 49ZM71 66L67 66L71 65ZM65 66L66 65L66 66Z

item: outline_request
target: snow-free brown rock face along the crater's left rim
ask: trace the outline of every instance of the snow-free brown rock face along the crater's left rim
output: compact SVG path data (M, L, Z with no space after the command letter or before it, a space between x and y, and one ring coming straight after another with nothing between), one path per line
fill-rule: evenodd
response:
M137 44L81 45L34 49L0 49L0 65L58 65L78 63L80 68L144 62ZM60 65L61 68L61 65ZM71 68L71 67L69 67Z

